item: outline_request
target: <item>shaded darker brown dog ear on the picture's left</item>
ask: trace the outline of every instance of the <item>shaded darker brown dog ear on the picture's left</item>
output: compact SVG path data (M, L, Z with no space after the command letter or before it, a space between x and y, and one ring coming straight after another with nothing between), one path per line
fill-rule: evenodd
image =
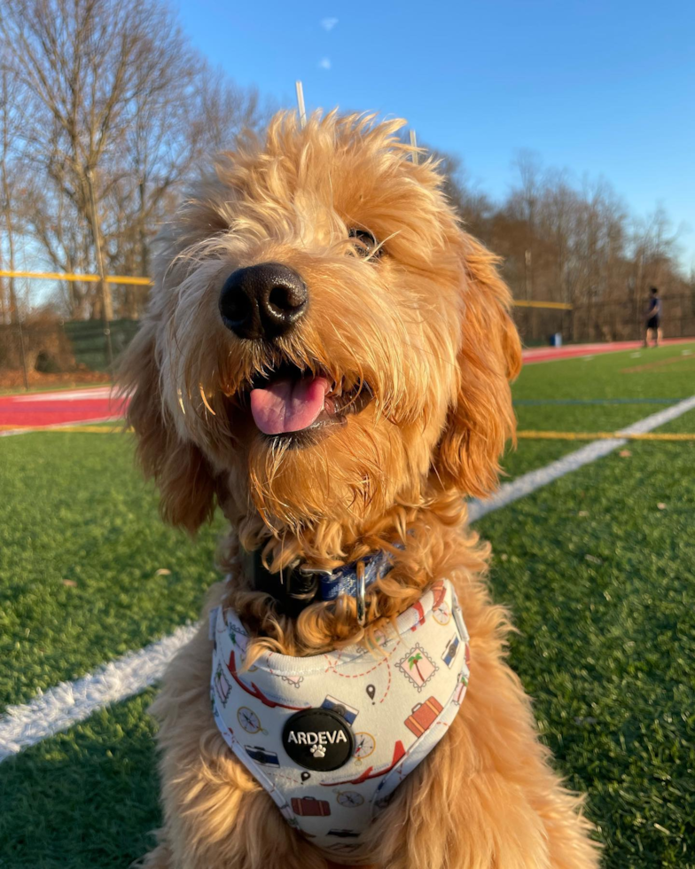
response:
M162 517L193 534L215 512L215 475L199 448L177 433L162 402L152 323L145 322L131 342L118 380L128 400L126 419L137 437L137 458L145 477L160 489Z

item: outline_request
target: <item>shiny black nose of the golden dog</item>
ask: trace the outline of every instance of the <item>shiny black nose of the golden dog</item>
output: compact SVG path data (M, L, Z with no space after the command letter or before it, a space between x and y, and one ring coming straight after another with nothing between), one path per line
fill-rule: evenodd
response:
M263 262L230 274L220 294L220 313L239 338L277 338L293 327L307 301L307 286L296 271Z

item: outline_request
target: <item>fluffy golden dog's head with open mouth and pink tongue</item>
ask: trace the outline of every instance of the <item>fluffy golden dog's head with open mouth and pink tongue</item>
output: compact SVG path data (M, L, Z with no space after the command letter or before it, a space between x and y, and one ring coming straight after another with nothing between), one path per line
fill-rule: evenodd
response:
M122 382L169 521L195 529L218 499L277 533L358 536L394 505L494 487L509 293L401 127L279 114L164 233Z

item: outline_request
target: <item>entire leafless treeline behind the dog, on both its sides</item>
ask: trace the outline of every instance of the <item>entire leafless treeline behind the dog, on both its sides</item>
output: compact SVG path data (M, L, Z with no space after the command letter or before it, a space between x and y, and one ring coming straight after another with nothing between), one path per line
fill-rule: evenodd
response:
M0 268L95 272L96 223L106 272L148 275L153 236L185 184L268 115L254 91L191 47L159 0L3 0ZM496 202L468 183L457 158L443 160L450 197L503 258L516 298L572 304L599 333L606 305L636 324L652 285L692 308L695 280L679 270L663 210L637 219L607 182L574 183L530 153ZM45 302L24 287L0 279L0 323ZM137 318L146 293L113 287L106 313ZM80 282L62 283L43 316L47 307L68 320L103 313L98 285Z

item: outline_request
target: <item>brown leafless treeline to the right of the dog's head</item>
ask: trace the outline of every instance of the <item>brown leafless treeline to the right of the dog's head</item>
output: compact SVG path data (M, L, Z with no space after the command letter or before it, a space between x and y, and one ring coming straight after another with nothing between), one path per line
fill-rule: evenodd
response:
M683 317L695 315L695 275L683 274L663 208L644 218L630 214L607 181L576 183L566 171L543 168L531 152L519 152L517 181L494 202L467 183L455 158L443 160L449 195L469 231L503 258L514 298L581 309L596 320L597 338L621 337L601 333L615 331L608 312L620 309L626 325L641 323L651 286L683 308Z

